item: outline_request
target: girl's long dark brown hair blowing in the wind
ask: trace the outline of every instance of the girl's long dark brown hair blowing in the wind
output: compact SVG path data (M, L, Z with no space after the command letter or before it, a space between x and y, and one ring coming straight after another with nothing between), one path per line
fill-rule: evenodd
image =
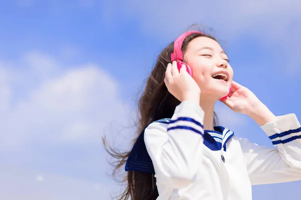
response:
M200 36L209 37L216 41L216 39L210 35L192 33L185 38L182 44L182 51L185 52L189 42ZM135 138L132 140L132 144L134 144L140 132L148 123L162 118L171 118L176 106L180 104L180 101L168 91L164 83L166 67L167 64L171 62L171 54L173 51L174 42L162 50L152 72L147 78L145 89L138 100L139 113L137 132ZM213 123L217 125L216 113L214 113ZM111 164L114 166L112 174L115 176L118 169L124 170L124 164L130 151L120 152L119 150L113 149L108 145L105 137L103 138L103 144L106 151L114 159ZM118 195L118 200L155 200L159 196L154 174L128 171L121 182L125 183L126 187L124 191Z

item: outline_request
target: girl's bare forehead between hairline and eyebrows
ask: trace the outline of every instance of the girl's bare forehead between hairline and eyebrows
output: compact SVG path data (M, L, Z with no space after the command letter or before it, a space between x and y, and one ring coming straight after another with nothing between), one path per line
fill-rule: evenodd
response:
M217 51L222 50L222 47L217 41L205 36L197 37L191 40L187 46L187 50L197 50L202 47L211 47L213 50Z

